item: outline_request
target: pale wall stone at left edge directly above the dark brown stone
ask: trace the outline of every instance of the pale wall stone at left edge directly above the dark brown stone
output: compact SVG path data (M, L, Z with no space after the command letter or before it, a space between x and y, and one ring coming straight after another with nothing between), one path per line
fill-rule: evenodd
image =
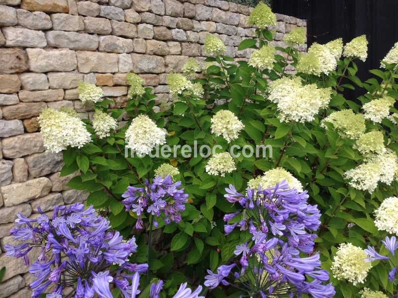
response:
M47 45L46 37L41 31L5 27L2 32L7 47L44 48Z

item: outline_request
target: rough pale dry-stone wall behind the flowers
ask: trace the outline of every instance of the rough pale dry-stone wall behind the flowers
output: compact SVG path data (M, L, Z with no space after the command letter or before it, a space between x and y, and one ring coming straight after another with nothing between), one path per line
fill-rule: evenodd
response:
M168 101L166 74L180 72L189 57L203 60L203 41L217 34L227 54L245 37L250 9L219 0L0 0L0 247L17 213L37 216L59 204L85 201L60 177L62 153L46 152L37 116L45 107L71 107L82 118L92 106L78 100L77 85L102 86L116 104L126 103L128 72L152 86L158 102ZM303 20L277 15L275 44ZM304 45L299 50L305 51ZM289 70L289 68L288 68ZM30 297L31 281L22 260L0 254L7 270L2 297Z

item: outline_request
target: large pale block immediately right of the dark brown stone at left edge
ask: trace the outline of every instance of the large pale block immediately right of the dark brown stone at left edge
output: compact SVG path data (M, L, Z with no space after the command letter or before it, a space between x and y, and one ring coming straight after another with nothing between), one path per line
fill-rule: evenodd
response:
M75 51L68 49L26 49L29 70L36 73L70 72L76 69Z

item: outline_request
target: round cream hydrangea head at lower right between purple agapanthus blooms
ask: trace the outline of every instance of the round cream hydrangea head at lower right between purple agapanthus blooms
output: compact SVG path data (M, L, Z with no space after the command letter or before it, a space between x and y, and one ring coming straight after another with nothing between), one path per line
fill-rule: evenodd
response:
M354 286L363 283L372 268L372 263L366 261L368 257L360 247L351 243L340 244L331 267L333 277L338 280L348 280Z

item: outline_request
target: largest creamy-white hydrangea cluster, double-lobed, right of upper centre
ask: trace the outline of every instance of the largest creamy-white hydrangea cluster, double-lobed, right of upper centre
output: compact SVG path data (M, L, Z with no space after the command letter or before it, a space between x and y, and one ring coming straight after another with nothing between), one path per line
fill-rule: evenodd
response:
M328 106L331 88L318 89L316 84L302 85L300 77L282 77L270 82L269 100L278 105L282 121L314 120L320 109Z

